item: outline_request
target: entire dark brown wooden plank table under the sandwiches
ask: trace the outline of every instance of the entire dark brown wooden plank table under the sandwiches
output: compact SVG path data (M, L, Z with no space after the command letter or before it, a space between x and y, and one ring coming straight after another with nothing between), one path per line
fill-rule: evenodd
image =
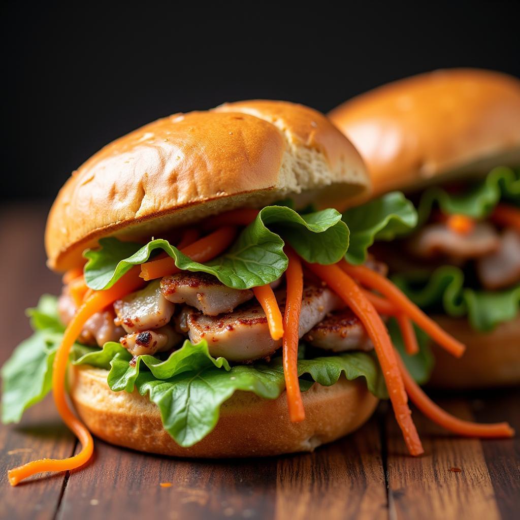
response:
M29 335L25 307L59 278L45 267L46 207L0 210L0 362ZM520 431L520 391L437 396L460 417L509 421ZM426 454L407 456L391 411L381 405L355 434L314 453L222 462L175 460L96 440L92 463L17 488L9 467L78 449L47 398L18 425L2 426L2 518L518 518L520 440L458 439L414 413ZM460 471L459 471L460 470ZM159 484L171 482L171 487Z

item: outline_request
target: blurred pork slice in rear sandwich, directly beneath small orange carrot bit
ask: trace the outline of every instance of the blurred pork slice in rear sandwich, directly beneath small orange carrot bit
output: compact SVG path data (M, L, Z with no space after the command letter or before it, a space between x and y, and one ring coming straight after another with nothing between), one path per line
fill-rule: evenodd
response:
M457 233L445 224L430 224L424 226L408 246L410 252L420 258L446 255L464 261L495 252L500 239L496 229L487 222L478 222L467 235Z

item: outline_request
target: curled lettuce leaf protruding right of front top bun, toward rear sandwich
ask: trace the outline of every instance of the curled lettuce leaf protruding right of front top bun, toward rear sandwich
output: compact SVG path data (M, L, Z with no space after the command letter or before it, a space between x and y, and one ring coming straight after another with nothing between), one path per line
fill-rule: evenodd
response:
M404 194L394 191L347 210L342 219L350 230L345 259L358 265L365 262L367 250L375 240L393 240L413 229L417 225L417 212Z

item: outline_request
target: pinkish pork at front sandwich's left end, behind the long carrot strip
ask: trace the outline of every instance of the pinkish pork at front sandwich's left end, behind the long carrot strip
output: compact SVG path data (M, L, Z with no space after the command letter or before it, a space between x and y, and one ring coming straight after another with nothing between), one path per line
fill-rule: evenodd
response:
M68 294L67 288L63 288L63 292L58 298L58 314L61 322L64 325L68 325L76 310L77 307L74 305L72 297ZM90 316L81 331L80 343L102 347L108 341L118 342L125 331L115 325L114 318L115 314L112 309Z

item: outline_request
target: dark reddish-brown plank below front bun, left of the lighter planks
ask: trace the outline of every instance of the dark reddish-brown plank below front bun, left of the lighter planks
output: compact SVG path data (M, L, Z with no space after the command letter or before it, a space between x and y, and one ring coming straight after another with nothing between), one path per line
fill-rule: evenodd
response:
M96 439L93 462L71 472L58 518L269 518L276 471L271 458L181 460Z

